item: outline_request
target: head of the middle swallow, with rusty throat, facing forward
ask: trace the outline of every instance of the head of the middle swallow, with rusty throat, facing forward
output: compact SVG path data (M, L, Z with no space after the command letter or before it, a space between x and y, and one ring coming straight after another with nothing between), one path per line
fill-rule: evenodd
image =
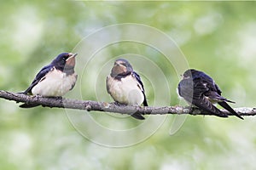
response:
M111 77L127 76L133 71L131 64L126 59L117 59L111 70Z

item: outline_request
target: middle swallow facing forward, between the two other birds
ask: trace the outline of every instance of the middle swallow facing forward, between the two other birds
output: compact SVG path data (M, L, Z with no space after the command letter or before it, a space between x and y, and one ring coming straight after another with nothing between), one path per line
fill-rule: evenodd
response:
M126 59L117 59L114 62L106 84L108 94L117 104L148 106L143 82ZM131 116L145 119L139 113L133 113Z

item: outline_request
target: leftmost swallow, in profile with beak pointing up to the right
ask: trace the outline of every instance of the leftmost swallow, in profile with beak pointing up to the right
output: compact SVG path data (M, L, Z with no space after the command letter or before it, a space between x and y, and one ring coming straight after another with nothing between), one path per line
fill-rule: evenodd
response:
M44 97L60 97L72 90L78 75L74 72L77 54L59 54L49 65L38 72L31 85L22 94L40 95ZM37 105L20 105L28 108Z

